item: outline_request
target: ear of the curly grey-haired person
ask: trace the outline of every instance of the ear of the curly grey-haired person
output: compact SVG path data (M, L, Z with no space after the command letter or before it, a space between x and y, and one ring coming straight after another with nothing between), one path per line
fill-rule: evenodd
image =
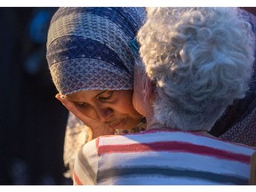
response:
M156 100L156 84L146 77L145 84L144 84L144 100L153 103Z

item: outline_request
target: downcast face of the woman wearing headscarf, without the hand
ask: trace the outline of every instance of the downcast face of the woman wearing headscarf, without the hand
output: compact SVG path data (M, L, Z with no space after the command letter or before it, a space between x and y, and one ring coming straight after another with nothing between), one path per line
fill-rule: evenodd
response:
M142 116L132 106L132 90L89 90L67 95L85 116L114 129L132 129Z

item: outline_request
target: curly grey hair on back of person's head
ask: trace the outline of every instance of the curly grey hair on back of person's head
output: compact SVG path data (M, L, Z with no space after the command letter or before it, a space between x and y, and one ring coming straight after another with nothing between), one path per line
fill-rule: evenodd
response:
M210 130L248 90L254 36L236 8L148 8L138 40L156 118L169 127Z

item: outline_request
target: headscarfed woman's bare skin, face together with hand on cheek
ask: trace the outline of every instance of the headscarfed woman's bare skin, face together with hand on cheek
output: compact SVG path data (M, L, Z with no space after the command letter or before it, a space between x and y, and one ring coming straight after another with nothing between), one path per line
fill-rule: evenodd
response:
M56 98L92 129L93 138L132 129L142 118L132 106L132 90L88 90Z

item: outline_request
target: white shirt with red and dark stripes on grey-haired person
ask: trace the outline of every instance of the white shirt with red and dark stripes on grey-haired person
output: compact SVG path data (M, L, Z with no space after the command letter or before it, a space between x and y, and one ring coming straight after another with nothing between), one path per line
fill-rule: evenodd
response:
M190 132L101 136L76 156L75 185L249 184L256 148Z

